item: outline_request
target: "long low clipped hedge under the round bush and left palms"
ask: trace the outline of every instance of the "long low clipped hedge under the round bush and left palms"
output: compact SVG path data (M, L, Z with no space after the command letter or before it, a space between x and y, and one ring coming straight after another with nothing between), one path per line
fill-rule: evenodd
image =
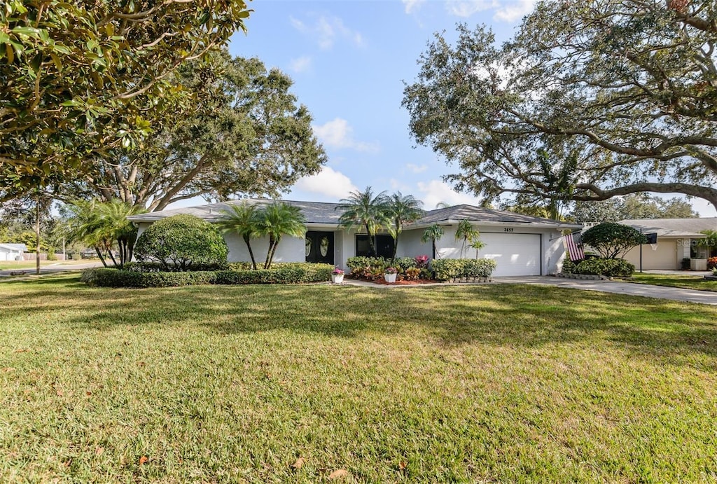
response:
M300 284L331 280L333 265L280 265L270 270L216 270L189 272L141 272L111 268L87 269L81 281L105 288L168 288L201 284Z

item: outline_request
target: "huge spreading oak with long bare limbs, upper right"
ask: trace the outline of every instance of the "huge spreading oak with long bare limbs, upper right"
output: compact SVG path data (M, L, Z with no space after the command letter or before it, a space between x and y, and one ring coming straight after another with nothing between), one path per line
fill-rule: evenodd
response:
M540 1L503 46L461 25L404 90L410 129L488 199L658 192L717 207L716 17L711 0Z

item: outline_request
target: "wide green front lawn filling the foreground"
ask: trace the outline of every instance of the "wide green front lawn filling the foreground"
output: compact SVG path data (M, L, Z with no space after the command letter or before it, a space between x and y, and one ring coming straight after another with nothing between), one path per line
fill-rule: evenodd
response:
M3 482L717 478L708 306L65 275L0 283L0 308Z

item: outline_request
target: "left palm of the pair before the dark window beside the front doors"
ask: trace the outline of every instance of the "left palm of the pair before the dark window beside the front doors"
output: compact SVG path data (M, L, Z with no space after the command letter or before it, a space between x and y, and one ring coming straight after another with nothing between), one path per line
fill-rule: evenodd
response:
M337 210L343 210L338 219L341 227L353 229L353 227L364 227L369 234L369 247L371 256L376 256L376 244L374 236L381 227L389 226L391 223L386 215L387 197L386 192L374 196L370 186L365 191L352 191L347 199L341 199Z

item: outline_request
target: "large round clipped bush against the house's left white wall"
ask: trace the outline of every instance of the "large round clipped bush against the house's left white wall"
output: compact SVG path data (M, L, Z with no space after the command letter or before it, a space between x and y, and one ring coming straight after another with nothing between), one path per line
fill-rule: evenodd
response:
M135 257L159 262L167 271L227 263L227 242L216 227L189 214L151 224L137 239Z

